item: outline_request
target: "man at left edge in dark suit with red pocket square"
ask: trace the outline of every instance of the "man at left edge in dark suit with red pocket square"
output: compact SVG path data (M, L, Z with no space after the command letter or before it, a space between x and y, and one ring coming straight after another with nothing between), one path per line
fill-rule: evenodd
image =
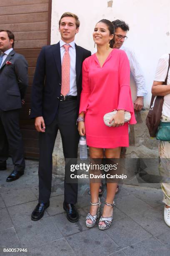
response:
M14 164L7 182L18 179L25 169L19 114L28 85L28 63L13 47L14 34L0 30L0 170L6 170L9 153Z

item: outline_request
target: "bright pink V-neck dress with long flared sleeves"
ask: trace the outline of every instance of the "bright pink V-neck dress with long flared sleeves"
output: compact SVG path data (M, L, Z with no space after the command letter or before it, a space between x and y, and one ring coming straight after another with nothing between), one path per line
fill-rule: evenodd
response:
M82 64L82 92L79 113L85 113L87 145L95 148L129 146L128 123L108 127L103 115L112 110L131 113L130 124L135 124L130 92L130 65L124 51L113 49L102 67L96 54Z

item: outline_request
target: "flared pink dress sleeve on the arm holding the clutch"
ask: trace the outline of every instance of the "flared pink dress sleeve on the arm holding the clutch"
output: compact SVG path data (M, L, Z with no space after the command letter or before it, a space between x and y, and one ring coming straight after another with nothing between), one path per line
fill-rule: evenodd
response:
M135 124L135 113L133 108L133 101L130 91L130 64L128 57L124 51L121 51L120 54L120 63L119 63L119 101L117 110L123 109L131 113L130 124Z

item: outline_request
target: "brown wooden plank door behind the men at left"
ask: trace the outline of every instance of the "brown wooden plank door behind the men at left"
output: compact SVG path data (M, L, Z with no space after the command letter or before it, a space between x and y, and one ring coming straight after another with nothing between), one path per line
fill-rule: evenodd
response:
M52 0L0 0L0 29L15 35L16 52L28 61L29 86L20 113L25 157L38 159L38 133L30 120L30 92L37 56L42 46L50 44Z

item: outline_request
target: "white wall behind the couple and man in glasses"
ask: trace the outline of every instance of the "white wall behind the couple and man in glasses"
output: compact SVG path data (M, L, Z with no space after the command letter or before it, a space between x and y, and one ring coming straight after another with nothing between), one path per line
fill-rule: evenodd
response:
M112 2L112 7L107 7ZM170 0L52 0L51 44L60 40L58 21L62 13L70 11L80 19L76 44L93 51L92 32L97 21L125 20L130 26L128 40L145 74L150 104L151 86L159 57L170 53Z

